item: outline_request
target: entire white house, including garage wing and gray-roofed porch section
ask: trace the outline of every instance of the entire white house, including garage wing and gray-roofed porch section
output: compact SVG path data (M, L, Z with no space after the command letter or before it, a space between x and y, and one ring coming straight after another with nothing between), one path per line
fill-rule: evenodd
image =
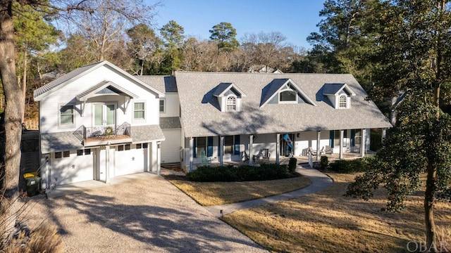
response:
M363 156L369 129L392 126L352 74L136 77L104 61L80 67L34 96L47 187L158 174L161 164L190 171L203 159L222 164L262 150L276 162L280 155L319 154L326 147L340 157Z

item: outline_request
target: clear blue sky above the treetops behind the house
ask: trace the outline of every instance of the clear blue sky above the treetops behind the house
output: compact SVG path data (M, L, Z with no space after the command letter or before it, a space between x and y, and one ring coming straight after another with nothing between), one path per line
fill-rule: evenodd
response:
M148 4L152 4L147 0ZM318 32L323 0L163 0L156 8L156 29L175 20L186 37L209 39L211 28L230 22L238 41L244 34L280 32L289 44L310 49L307 36Z

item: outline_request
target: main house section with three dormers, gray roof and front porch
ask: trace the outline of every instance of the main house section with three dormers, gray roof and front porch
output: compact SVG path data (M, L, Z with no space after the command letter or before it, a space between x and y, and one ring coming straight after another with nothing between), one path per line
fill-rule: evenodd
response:
M369 129L392 126L352 74L175 72L175 79L187 170L202 153L220 164L261 150L276 162L309 148L363 156Z

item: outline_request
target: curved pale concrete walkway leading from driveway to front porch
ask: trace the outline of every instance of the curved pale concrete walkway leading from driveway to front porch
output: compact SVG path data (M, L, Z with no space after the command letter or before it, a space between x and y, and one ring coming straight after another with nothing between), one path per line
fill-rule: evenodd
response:
M307 165L308 166L308 165ZM271 197L262 197L257 200L248 200L243 202L237 202L228 205L217 205L211 207L205 207L211 214L214 214L216 217L221 217L222 215L230 214L240 209L246 209L251 207L257 207L259 205L265 205L268 203L280 201L280 200L289 200L295 197L302 197L305 195L309 195L312 193L317 193L320 190L324 190L330 186L333 181L330 177L326 176L326 174L321 173L316 169L311 169L309 167L304 167L302 165L297 165L296 172L302 174L302 176L307 176L310 179L311 184L305 188L294 190L290 193L283 193L280 195L274 195ZM222 210L222 214L221 214Z

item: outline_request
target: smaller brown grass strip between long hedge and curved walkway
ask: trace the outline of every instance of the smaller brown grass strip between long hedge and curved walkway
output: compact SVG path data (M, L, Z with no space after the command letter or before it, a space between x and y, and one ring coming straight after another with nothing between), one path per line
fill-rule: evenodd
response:
M166 179L204 206L226 205L289 193L290 191L309 186L311 183L310 179L307 179L305 176L270 181L214 183L176 180L174 177L167 177Z

